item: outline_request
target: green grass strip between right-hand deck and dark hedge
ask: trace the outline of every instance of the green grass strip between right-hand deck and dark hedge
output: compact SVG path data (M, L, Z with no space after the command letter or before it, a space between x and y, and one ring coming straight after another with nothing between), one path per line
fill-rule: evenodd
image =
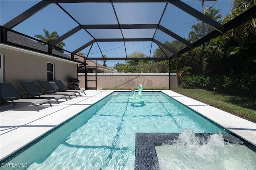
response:
M229 96L202 89L172 88L171 90L227 112L256 121L256 100L253 98Z

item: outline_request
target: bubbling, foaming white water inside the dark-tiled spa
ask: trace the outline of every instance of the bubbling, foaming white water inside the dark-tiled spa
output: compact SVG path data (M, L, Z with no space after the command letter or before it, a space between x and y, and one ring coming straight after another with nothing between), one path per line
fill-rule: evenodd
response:
M172 145L155 147L159 166L170 169L256 169L256 153L244 145L224 142L222 134L202 143L192 129L185 129Z

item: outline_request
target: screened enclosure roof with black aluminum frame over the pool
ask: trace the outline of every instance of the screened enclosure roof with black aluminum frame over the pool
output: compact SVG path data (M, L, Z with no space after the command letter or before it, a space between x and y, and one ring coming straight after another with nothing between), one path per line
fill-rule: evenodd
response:
M256 17L256 6L233 20L221 24L205 15L212 8L228 15L232 1L216 0L1 0L1 44L12 45L54 57L77 61L168 60ZM195 39L189 32L201 23L202 32ZM207 28L207 29L206 29ZM50 42L38 39L43 30L59 35ZM8 38L10 32L46 45ZM168 45L176 42L178 46ZM59 46L64 43L65 46ZM60 51L61 53L56 53ZM132 57L139 51L145 57ZM162 56L156 56L161 51ZM68 57L67 57L68 56ZM106 57L104 57L106 56ZM170 65L170 64L169 64ZM86 74L86 69L84 69ZM170 69L169 69L170 73Z

